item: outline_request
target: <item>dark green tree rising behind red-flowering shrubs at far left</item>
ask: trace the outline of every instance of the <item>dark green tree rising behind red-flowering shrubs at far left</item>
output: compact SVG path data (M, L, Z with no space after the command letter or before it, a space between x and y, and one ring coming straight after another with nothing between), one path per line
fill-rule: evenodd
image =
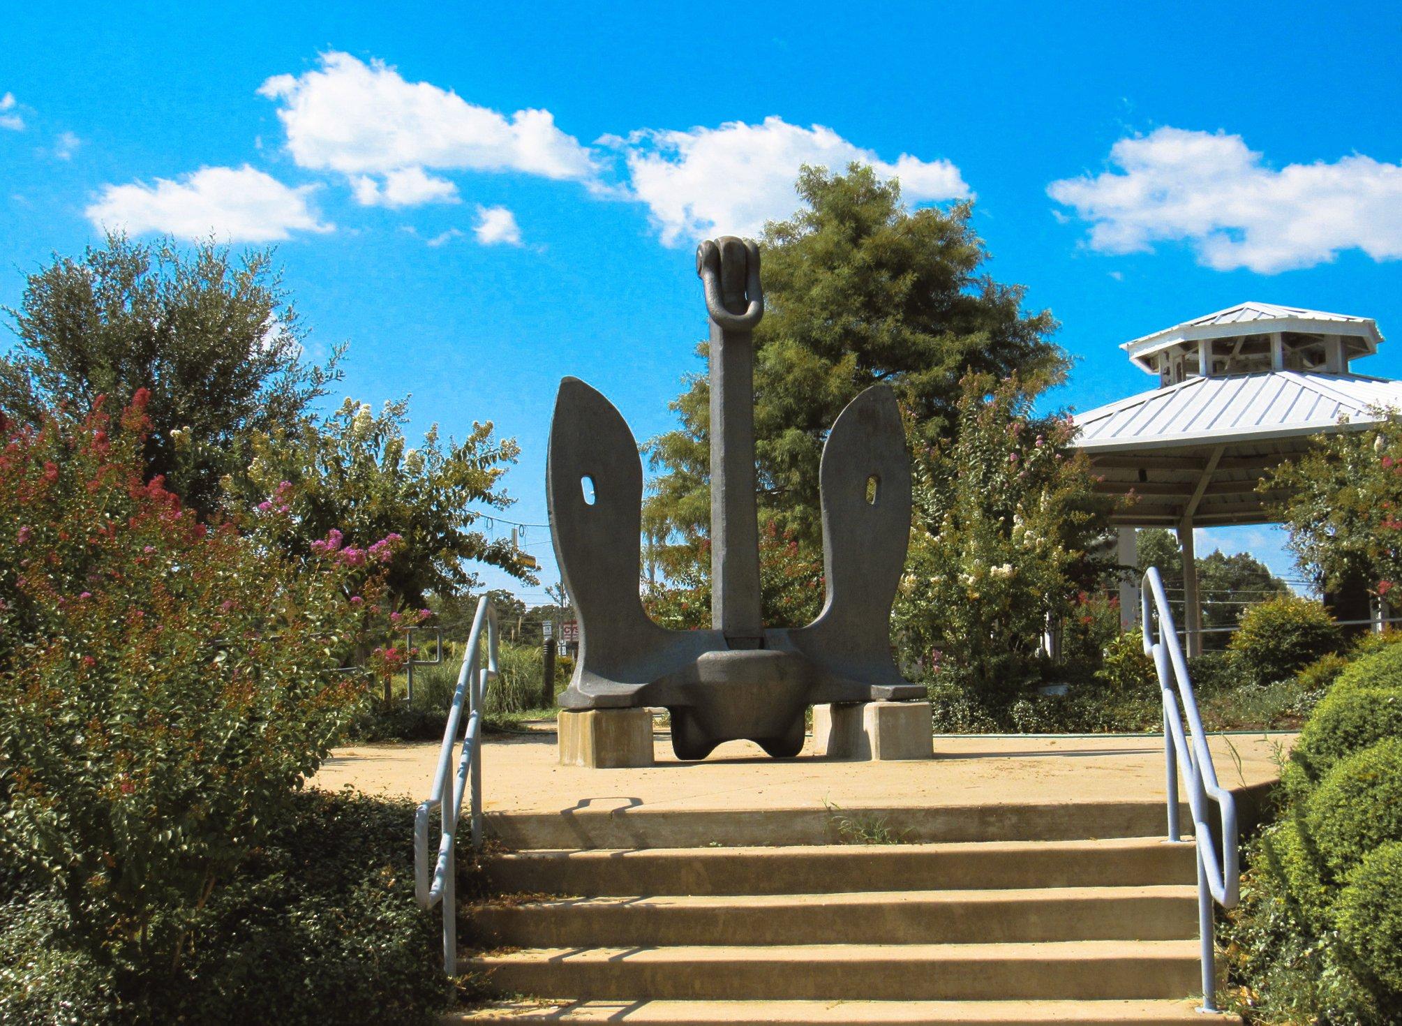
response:
M339 350L324 367L304 360L269 251L236 261L212 242L184 251L109 234L29 275L6 313L18 342L0 359L0 402L38 423L46 409L81 418L100 399L115 415L146 388L146 477L163 475L202 512L217 503L219 479L248 463L251 432L304 418L339 377Z

